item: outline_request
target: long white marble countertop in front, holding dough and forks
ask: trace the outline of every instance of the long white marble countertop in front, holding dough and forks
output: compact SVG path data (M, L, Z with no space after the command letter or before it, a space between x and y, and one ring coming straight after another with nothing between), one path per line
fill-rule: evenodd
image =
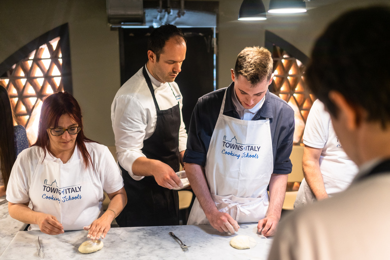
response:
M272 239L257 236L256 226L241 224L234 235L221 234L210 225L149 226L140 228L113 228L103 240L102 250L82 254L78 247L86 238L86 231L70 231L50 236L39 231L18 232L0 259L40 259L38 236L45 259L267 259ZM184 252L173 232L188 248ZM248 235L256 241L250 249L238 250L230 246L236 235Z

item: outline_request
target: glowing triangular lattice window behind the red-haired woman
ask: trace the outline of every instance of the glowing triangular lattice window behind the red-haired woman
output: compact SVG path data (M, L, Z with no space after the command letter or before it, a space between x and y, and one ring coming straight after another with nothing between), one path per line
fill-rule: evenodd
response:
M55 91L62 91L62 55L59 37L40 46L28 57L14 64L1 78L10 96L16 121L27 131L30 143L37 139L37 125L42 101Z

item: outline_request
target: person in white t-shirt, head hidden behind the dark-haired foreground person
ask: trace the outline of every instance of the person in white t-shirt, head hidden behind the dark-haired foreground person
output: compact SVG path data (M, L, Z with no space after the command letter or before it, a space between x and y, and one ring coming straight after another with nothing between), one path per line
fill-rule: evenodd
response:
M303 134L303 179L294 207L326 199L346 189L358 167L345 154L322 102L310 109Z

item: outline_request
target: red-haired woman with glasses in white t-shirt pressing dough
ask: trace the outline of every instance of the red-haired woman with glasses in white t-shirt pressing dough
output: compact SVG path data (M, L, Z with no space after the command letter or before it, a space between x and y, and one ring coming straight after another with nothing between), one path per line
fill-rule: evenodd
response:
M103 213L104 191L111 201ZM11 217L29 223L29 230L57 235L84 229L98 239L106 236L126 198L108 148L84 136L77 101L67 92L48 96L37 142L19 154L12 168L7 189Z

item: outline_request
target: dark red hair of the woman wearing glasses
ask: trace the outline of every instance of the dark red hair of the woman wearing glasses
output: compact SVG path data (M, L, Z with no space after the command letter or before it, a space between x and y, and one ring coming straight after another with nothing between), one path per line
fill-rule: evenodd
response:
M50 140L47 129L51 126L57 127L59 118L64 114L68 114L72 120L74 120L81 127L81 130L76 137L76 144L83 156L85 168L87 168L88 165L92 166L92 159L87 151L87 148L85 147L84 142L94 141L84 136L80 106L76 99L66 91L55 92L44 100L41 109L41 116L39 118L38 138L34 145L44 149L45 156L46 149L51 152L49 148Z

